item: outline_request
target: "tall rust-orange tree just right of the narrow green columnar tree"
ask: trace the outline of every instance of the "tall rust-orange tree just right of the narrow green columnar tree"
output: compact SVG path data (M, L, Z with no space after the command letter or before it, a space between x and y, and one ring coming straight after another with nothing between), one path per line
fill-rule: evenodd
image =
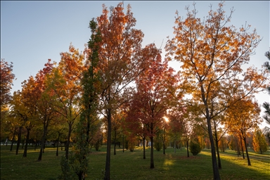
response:
M131 6L127 6L124 13L124 4L108 8L103 5L103 13L97 18L98 28L102 40L98 49L98 69L101 75L101 105L102 113L108 122L107 154L105 163L105 177L110 179L110 146L111 146L111 117L129 96L131 82L143 71L148 58L156 55L157 50L151 44L145 52L141 49L143 32L136 30L136 19L131 13Z

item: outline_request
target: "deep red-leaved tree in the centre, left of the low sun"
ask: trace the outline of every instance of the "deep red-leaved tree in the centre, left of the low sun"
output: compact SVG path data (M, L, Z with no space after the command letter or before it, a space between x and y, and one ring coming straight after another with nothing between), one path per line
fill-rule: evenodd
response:
M136 92L131 100L128 120L145 127L144 132L150 138L150 168L154 168L153 144L154 137L162 130L167 109L176 86L174 70L168 67L167 61L162 63L160 54L136 80ZM164 125L164 124L163 124Z

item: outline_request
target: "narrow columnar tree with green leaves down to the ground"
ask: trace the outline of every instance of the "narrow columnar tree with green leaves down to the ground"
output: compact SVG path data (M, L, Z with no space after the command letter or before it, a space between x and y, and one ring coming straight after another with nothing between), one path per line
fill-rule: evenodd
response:
M70 176L75 172L79 180L87 176L89 164L89 144L98 129L98 94L101 85L101 72L98 71L98 43L101 41L101 32L97 23L93 20L89 22L91 38L88 41L87 63L88 68L83 72L82 85L82 113L76 128L76 143L70 154L70 160L62 160L62 176ZM72 168L71 168L72 167ZM73 169L73 170L70 170Z

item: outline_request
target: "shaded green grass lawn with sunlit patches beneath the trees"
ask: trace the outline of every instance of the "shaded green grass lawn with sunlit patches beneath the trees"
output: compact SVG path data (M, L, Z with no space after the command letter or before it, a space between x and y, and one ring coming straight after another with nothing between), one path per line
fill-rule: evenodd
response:
M10 146L1 145L1 180L9 179L57 179L60 171L60 158L64 150L56 157L56 148L46 148L41 162L37 162L39 150L29 148L27 158L23 158L23 149L15 155ZM270 179L270 151L263 155L250 150L251 165L247 159L239 157L232 150L220 153L222 169L221 179ZM89 172L86 179L101 179L105 168L105 146L100 151L93 150L89 155ZM186 158L186 149L167 148L166 155L154 151L155 168L150 169L150 149L143 151L136 148L134 152L117 149L111 155L110 179L213 179L210 150L203 150L196 156Z

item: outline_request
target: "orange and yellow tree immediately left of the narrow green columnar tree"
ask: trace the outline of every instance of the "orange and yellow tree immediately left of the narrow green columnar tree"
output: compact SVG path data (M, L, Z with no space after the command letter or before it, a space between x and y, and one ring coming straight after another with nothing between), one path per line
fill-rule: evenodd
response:
M68 124L68 137L65 143L65 157L68 159L70 135L75 120L81 113L82 88L80 80L84 71L84 55L70 45L69 52L60 53L61 60L57 68L48 77L48 89L55 94L57 101L53 101L52 108L65 118Z

